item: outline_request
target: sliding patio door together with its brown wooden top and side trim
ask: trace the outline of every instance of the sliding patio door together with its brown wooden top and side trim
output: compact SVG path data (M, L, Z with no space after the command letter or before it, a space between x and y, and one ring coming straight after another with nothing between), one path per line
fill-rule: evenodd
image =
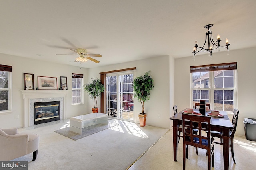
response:
M100 72L100 80L105 87L104 95L100 96L100 113L108 113L112 111L112 113L109 113L109 115L114 114L117 117L121 117L123 119L133 119L133 90L131 90L130 88L132 86L135 70L136 67ZM106 74L108 74L108 76L106 76ZM119 93L121 93L121 96L118 95ZM113 106L110 106L111 103L113 104ZM122 106L124 109L117 109ZM122 111L128 112L129 116L124 117L125 113L122 113Z

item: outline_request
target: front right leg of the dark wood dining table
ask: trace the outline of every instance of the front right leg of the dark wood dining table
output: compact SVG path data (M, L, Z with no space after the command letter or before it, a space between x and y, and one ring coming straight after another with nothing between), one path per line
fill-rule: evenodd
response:
M224 163L224 170L228 170L229 166L229 129L223 129L223 163Z

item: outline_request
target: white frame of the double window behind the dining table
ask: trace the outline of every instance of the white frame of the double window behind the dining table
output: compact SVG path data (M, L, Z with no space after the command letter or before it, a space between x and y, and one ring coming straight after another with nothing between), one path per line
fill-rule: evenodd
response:
M225 70L224 70L225 71ZM193 90L209 90L209 103L211 104L211 109L214 109L214 90L233 90L234 91L234 108L237 108L237 70L234 72L234 87L233 88L215 88L214 87L214 71L209 71L209 87L208 88L193 88L193 73L190 73L190 107L193 107ZM224 100L224 99L223 99ZM229 111L227 111L229 112ZM230 111L231 113L231 111Z

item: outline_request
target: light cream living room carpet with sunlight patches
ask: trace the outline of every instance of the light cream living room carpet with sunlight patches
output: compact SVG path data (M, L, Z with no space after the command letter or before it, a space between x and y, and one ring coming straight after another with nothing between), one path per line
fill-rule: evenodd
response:
M40 141L36 161L32 162L32 153L15 160L27 160L28 170L126 170L169 130L128 121L117 123L77 141L54 132L68 127L68 119L45 127L18 129L38 134Z

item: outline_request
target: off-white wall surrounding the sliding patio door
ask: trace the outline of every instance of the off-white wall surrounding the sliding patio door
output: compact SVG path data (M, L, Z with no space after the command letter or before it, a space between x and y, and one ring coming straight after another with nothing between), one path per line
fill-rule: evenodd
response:
M173 60L173 59L172 59ZM100 78L100 72L119 70L136 67L136 76L142 76L150 70L150 75L154 80L154 89L150 95L150 100L145 103L145 113L147 113L146 125L170 128L170 69L169 56L153 57L150 59L132 61L127 63L113 64L98 68L90 68L88 78ZM99 100L98 100L99 101ZM93 106L90 100L88 106ZM100 109L100 105L99 109ZM138 114L142 107L138 100L134 100L135 122L139 122ZM160 118L158 118L160 114Z

